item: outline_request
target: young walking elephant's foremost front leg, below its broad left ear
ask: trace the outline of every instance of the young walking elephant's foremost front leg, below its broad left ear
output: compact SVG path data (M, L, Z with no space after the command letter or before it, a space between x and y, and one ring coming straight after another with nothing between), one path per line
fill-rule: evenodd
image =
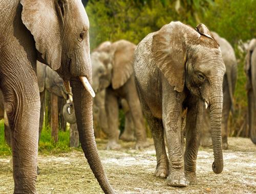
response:
M163 91L163 126L169 155L170 186L187 186L184 174L183 144L181 140L181 101L177 91Z

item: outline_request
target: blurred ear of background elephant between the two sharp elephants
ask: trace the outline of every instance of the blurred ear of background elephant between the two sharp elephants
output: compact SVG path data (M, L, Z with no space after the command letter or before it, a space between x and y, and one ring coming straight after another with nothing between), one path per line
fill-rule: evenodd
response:
M119 40L112 44L112 87L117 89L127 82L133 74L133 60L136 45L126 41Z

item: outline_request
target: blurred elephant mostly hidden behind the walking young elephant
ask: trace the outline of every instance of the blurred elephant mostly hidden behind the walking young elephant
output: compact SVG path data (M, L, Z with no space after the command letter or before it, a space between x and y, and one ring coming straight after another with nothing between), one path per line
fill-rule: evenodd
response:
M219 43L221 48L221 55L225 63L226 72L223 78L223 108L222 108L222 119L221 119L221 130L222 130L222 148L228 149L228 117L230 110L233 110L233 94L234 88L237 82L237 59L234 55L234 50L229 42L221 38L217 33L212 32L215 40ZM205 109L204 122L201 133L201 146L209 147L212 146L211 135L210 135L210 120L209 120L209 109Z

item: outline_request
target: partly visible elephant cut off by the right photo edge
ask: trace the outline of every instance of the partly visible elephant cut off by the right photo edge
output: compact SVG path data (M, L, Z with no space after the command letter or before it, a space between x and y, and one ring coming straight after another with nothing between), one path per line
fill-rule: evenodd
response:
M248 46L245 62L247 77L248 122L251 141L256 144L256 39L253 38Z

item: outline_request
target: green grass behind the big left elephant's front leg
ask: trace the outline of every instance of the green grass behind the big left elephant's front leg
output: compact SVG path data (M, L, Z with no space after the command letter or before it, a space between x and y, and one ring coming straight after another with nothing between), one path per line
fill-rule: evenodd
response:
M69 130L58 132L58 142L54 143L51 138L51 128L44 127L41 132L41 138L39 141L38 153L49 155L49 154L60 154L70 152L72 150L81 151L80 148L69 147ZM10 156L11 148L5 142L4 132L4 120L0 120L0 156Z

